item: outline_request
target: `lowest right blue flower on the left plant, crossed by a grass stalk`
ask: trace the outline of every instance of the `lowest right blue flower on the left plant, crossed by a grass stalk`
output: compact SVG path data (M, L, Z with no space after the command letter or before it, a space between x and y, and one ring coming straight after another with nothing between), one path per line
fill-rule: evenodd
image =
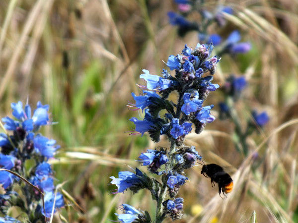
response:
M41 213L45 215L47 218L50 218L52 215L52 210L54 206L54 200L55 200L55 193L53 192L47 192L44 197L45 200L45 212L43 208L41 209ZM54 213L56 213L57 209L62 208L64 206L64 200L62 194L59 192L56 194L56 200L55 200L55 208Z

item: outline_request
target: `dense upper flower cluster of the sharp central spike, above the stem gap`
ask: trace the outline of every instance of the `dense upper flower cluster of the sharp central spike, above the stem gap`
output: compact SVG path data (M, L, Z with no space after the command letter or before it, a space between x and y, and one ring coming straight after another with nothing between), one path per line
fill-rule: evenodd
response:
M212 50L213 45L198 44L195 49L185 45L182 55L169 56L166 65L170 70L175 70L175 76L165 69L162 77L143 70L140 77L147 81L147 86L139 86L148 90L144 90L144 95L141 96L132 93L136 103L129 104L130 107L145 110L143 120L136 117L130 119L136 125L136 133L143 136L145 132L149 132L154 142L158 142L160 135L165 134L179 146L191 132L192 123L196 127L196 133L200 133L206 123L215 120L210 112L213 105L202 107L209 93L219 88L218 84L212 83L212 75L219 62L217 56L211 56ZM205 73L211 75L202 77ZM179 92L177 104L167 100L174 90ZM159 116L161 110L167 111L164 117Z

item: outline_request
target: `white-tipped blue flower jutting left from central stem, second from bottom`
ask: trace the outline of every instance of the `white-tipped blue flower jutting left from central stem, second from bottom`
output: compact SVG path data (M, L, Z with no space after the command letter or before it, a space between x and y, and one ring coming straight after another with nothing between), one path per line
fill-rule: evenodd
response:
M140 171L140 170L136 168L136 171ZM110 177L112 179L111 184L115 184L118 187L117 192L114 192L112 194L124 192L126 189L130 187L139 185L141 183L141 179L137 174L130 171L121 171L118 173L119 178L115 178L114 176L111 176Z

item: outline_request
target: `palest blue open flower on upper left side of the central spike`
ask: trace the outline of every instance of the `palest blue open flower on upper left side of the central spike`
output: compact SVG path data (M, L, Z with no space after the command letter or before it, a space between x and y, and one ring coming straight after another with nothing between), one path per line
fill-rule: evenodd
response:
M147 81L147 88L149 90L165 90L171 86L171 80L164 79L157 75L149 74L148 70L143 70L143 74L140 75L140 78L143 78Z

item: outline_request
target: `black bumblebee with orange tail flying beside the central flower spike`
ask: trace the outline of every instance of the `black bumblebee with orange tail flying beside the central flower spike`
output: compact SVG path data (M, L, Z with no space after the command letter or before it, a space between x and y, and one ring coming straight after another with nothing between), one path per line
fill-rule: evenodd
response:
M203 165L201 173L205 177L211 178L212 187L215 186L215 182L219 184L219 194L229 193L233 189L233 180L229 174L227 174L223 167L217 164ZM225 194L224 194L225 196ZM226 196L225 196L226 197Z

